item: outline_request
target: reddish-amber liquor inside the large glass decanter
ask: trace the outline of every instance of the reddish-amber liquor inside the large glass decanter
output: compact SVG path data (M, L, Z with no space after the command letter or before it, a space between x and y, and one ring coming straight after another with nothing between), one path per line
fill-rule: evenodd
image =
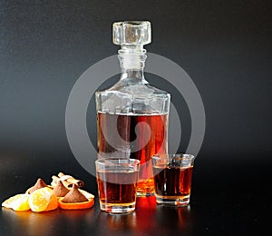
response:
M167 114L98 113L99 153L103 156L110 153L114 155L114 152L118 152L110 144L111 140L116 141L117 137L111 137L111 140L107 141L108 133L112 131L112 127L116 126L117 121L117 131L123 143L115 143L114 146L120 147L123 144L123 148L128 150L127 157L137 159L141 164L138 194L154 192L151 156L159 152L167 152L167 117ZM136 126L138 126L139 135L135 132ZM149 137L148 142L145 137ZM125 147L125 143L130 143L130 147Z

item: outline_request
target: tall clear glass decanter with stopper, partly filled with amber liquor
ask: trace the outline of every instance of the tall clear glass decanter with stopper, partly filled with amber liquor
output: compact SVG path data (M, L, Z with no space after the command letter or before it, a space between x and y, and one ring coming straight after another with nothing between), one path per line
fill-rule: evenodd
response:
M141 162L137 194L154 192L151 156L168 150L170 93L144 78L146 50L151 43L150 22L112 25L113 44L121 45L121 78L96 92L98 158L127 157Z

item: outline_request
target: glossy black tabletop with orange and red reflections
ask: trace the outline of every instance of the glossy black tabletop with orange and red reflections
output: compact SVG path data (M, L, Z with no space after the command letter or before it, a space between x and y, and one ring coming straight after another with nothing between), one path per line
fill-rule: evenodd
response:
M95 178L73 161L59 165L48 162L48 153L40 153L39 162L17 153L0 162L0 202L25 192L41 177L50 183L60 170L85 182L95 205L82 211L56 210L43 213L0 210L0 235L236 235L267 231L271 212L270 162L215 162L199 155L192 176L191 201L188 207L165 207L154 197L138 198L136 211L109 214L100 211ZM51 154L52 160L60 160ZM65 160L65 159L63 159ZM4 162L3 162L4 161ZM26 165L27 163L27 165ZM209 164L208 164L209 163ZM21 168L20 168L21 166ZM23 167L22 167L23 166Z

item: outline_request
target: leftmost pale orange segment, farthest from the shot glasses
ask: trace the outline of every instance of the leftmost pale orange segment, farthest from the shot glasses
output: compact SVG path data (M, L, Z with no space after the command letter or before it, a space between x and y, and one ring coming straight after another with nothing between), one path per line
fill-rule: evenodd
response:
M28 198L28 194L16 194L5 200L5 202L2 203L2 206L5 208L12 208L14 211L28 211L30 209Z

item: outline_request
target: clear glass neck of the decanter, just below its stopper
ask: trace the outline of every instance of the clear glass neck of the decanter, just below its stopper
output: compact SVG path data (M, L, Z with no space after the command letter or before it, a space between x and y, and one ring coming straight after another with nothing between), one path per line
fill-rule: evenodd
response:
M130 79L148 84L144 79L144 65L147 58L146 50L141 47L122 46L118 51L121 66L121 80Z

